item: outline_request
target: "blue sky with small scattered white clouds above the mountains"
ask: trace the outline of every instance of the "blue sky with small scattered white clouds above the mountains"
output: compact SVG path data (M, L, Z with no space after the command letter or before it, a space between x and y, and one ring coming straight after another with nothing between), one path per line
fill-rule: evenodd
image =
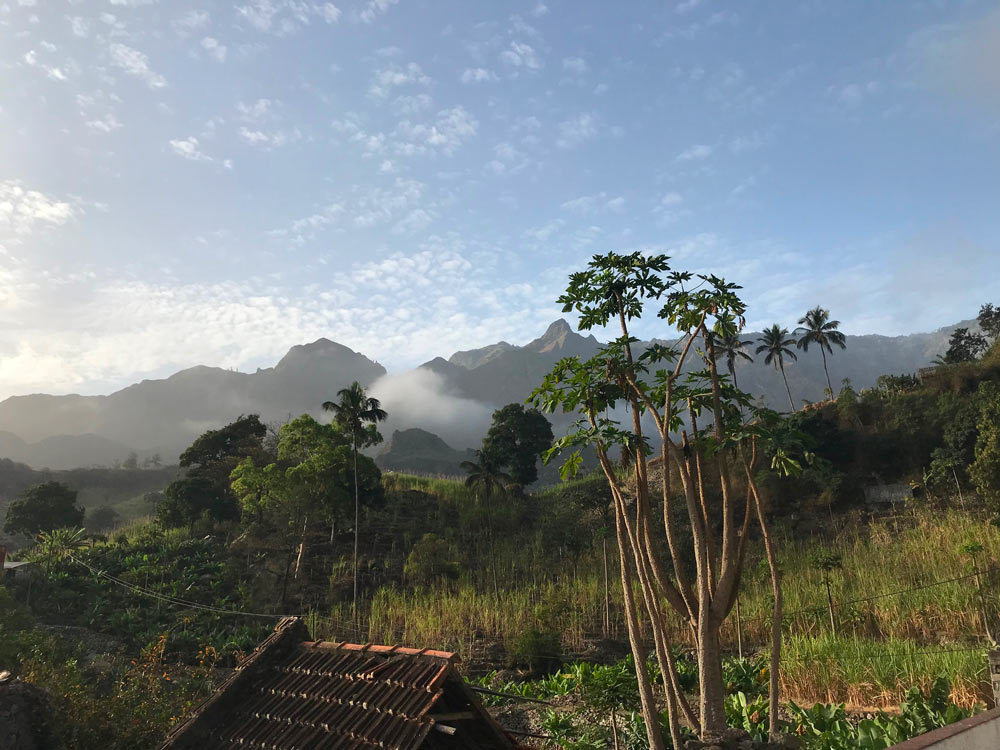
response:
M998 146L996 2L0 0L0 398L524 344L608 250L934 330Z

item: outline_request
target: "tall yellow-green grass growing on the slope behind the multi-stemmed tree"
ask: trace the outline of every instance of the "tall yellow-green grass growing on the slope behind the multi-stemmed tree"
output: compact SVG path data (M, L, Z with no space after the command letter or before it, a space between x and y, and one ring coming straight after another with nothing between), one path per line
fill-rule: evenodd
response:
M420 489L444 502L471 502L455 480L397 475L391 481L396 488ZM557 499L553 491L540 497ZM981 599L971 575L973 560L961 548L970 542L981 545L978 565L990 569L1000 558L1000 529L963 512L921 508L870 524L859 519L839 523L842 528L832 537L786 539L780 547L788 615L782 681L788 694L806 702L888 707L898 705L905 688L926 688L943 675L960 705L984 701L988 682L985 647L979 646L985 635L982 602L995 618L1000 575L983 576ZM810 566L817 548L843 560L842 569L831 578L837 637L830 631L823 574ZM430 590L383 588L374 597L371 619L361 635L374 641L435 643L474 657L482 641L509 644L526 629L543 628L562 634L566 653L580 653L588 639L601 635L600 552L584 552L572 568L567 561L558 570L519 578L519 558L524 561L533 554L523 541L500 541L499 597L483 585L482 571L467 571L457 584ZM743 640L749 650L764 650L769 639L770 583L760 557L760 550L751 551L741 594ZM530 562L525 565L531 567ZM616 578L612 567L611 597L619 613ZM350 621L345 610L333 616ZM620 620L620 613L615 619ZM676 642L690 645L686 626L679 619L674 625ZM618 629L624 632L621 625ZM734 616L723 635L726 646L735 650Z

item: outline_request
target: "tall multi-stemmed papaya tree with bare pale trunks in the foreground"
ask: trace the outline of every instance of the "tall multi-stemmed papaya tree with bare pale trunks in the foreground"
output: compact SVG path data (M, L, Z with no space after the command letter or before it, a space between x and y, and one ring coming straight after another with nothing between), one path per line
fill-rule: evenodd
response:
M744 424L741 408L749 407L750 396L719 376L716 342L738 333L744 320L745 306L737 289L716 276L671 271L662 255L595 256L586 270L570 275L559 302L565 312L579 314L581 330L614 322L620 326L621 336L586 361L579 357L560 360L532 393L536 406L578 416L569 434L556 440L546 458L568 452L564 469L572 473L581 462L581 451L592 447L608 479L625 621L651 750L663 750L665 744L645 668L647 634L652 635L660 666L674 747L682 745L681 717L706 742L716 741L726 728L720 629L735 604L753 516L761 525L772 576L769 716L771 731L778 731L781 588L775 546L755 477L764 444L776 439L769 433L777 434L773 424L780 418L773 412L757 412L754 420ZM630 335L629 322L642 316L647 301L661 299L659 317L679 330L681 338L674 347L657 344L635 356L632 347L636 339ZM685 363L696 357L703 368L682 372ZM620 402L628 407L630 424L611 416ZM706 415L709 426L700 428L698 418ZM653 533L647 461L651 449L644 434L644 417L656 425L660 438L658 484L665 548ZM690 433L682 429L684 418ZM633 458L627 488L618 464L610 457L614 448L627 450ZM788 450L783 449L780 455L772 451L776 470L790 470ZM736 475L744 480L745 498L737 497ZM680 488L674 484L675 477ZM711 505L706 501L709 496ZM686 518L676 507L678 502L686 509ZM668 554L666 560L664 553ZM665 608L681 617L695 640L697 713L680 689Z

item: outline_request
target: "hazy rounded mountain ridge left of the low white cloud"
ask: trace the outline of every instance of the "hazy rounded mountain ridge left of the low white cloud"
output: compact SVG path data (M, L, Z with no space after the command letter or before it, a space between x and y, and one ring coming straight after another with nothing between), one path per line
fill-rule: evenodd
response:
M241 414L284 421L317 413L340 388L355 380L367 386L383 375L385 368L364 355L319 339L293 347L273 368L256 373L199 366L108 396L15 396L0 402L0 457L53 469L110 464L130 450L173 461L202 432ZM77 440L25 449L4 433L26 443Z

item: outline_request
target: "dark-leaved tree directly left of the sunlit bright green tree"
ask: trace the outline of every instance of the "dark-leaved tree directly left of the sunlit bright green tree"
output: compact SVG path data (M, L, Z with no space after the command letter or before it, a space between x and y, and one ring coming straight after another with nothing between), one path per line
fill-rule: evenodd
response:
M193 528L202 517L216 522L239 518L229 476L244 458L262 460L266 433L260 417L250 414L200 435L180 456L184 476L167 486L156 505L160 524Z

